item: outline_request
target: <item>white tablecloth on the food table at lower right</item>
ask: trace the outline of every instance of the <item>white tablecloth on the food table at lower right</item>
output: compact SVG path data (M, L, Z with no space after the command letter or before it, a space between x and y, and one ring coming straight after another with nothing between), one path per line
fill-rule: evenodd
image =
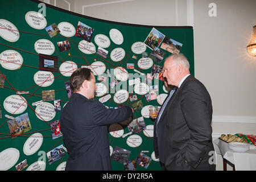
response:
M250 150L237 152L229 148L229 144L216 139L213 141L217 154L221 154L224 159L234 164L237 171L256 171L256 148L250 145Z

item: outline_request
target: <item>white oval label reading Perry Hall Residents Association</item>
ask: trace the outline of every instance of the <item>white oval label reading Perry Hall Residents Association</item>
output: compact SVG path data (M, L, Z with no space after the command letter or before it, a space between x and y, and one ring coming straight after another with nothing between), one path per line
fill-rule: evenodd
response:
M47 39L37 40L34 47L37 53L43 53L44 55L52 55L52 53L55 51L55 46Z

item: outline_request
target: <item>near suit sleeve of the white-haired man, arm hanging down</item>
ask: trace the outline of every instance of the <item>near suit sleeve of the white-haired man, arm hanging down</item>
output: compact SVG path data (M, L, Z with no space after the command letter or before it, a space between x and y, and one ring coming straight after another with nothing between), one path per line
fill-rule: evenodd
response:
M181 97L181 111L191 131L183 158L196 168L202 160L209 141L212 140L212 104L203 84L189 81ZM208 155L208 154L207 154Z

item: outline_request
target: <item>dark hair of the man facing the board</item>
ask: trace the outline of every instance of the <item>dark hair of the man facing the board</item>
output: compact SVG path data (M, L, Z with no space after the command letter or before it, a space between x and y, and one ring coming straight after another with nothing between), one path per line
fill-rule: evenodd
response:
M72 73L70 77L70 88L72 92L77 92L80 90L82 82L84 80L90 80L92 78L92 71L89 68L79 68Z

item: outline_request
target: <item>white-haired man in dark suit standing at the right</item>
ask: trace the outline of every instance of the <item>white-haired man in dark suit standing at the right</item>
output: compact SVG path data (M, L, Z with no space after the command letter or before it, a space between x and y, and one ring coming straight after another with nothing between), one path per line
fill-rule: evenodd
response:
M167 106L167 170L214 170L209 162L212 144L212 101L205 86L189 73L187 58L172 55L166 59L163 77L177 86ZM212 153L211 153L212 154Z

